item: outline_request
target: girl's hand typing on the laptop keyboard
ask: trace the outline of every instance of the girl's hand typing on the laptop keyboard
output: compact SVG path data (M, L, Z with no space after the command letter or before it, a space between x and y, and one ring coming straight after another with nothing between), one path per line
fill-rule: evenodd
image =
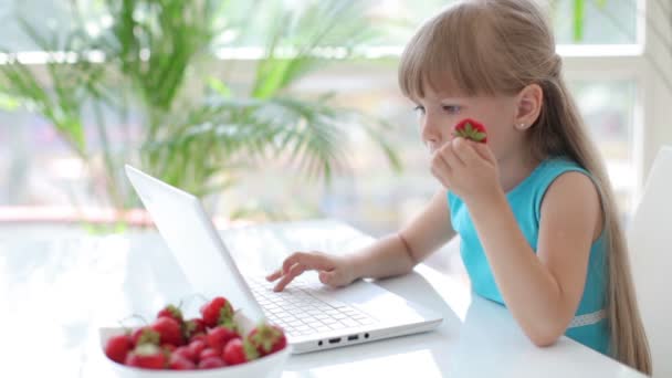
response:
M357 280L350 258L335 256L316 251L294 252L285 259L282 267L269 274L266 280L273 282L280 279L273 291L282 292L294 277L309 270L318 271L319 281L332 287L346 286Z

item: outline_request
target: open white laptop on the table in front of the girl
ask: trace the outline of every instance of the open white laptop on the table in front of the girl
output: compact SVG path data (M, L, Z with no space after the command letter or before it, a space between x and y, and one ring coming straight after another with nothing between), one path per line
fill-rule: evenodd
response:
M128 165L126 175L192 288L280 325L295 354L427 332L443 319L364 280L334 290L304 274L273 292L263 275L241 274L198 198Z

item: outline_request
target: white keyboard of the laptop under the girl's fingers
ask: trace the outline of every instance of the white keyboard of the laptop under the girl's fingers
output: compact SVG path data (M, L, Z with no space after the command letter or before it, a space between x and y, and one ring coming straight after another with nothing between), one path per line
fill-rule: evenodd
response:
M311 294L314 285L296 277L282 292L263 277L248 277L252 294L265 316L292 336L346 329L376 323L363 311L340 301L318 298Z

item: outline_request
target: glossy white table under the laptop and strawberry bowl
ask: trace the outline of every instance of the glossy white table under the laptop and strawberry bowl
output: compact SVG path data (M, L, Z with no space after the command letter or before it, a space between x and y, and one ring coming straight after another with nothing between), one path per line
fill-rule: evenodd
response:
M345 253L371 240L332 220L231 229L222 237L239 265L263 271L293 250ZM0 232L0 324L11 340L0 343L0 356L10 356L0 358L3 377L114 377L102 360L97 327L132 313L149 318L192 294L151 231L105 238ZM505 308L427 265L377 284L440 312L444 322L426 334L292 356L283 377L643 377L568 338L535 347Z

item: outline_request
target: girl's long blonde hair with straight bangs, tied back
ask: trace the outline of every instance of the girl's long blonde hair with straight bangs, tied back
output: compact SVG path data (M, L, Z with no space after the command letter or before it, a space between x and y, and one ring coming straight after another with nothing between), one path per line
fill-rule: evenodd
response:
M399 85L410 98L424 97L424 85L465 96L513 95L529 84L543 88L542 113L528 130L531 154L537 161L567 156L592 175L607 238L610 354L650 375L649 345L611 185L560 74L553 32L534 1L471 0L420 28L401 56Z

